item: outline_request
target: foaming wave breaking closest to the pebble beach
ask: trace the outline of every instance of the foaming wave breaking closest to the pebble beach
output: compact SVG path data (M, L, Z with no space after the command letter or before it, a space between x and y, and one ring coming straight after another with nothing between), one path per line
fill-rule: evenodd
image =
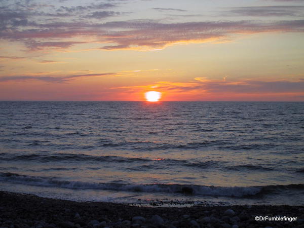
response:
M194 184L123 184L68 181L57 177L19 175L17 173L0 173L0 181L35 186L59 187L69 189L99 189L126 192L174 193L203 196L250 197L268 194L278 190L304 189L304 184L267 185L267 186L206 186Z

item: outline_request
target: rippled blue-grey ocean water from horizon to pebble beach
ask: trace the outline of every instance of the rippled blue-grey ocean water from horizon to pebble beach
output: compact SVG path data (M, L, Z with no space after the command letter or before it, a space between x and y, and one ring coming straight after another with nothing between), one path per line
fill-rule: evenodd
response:
M304 204L303 102L0 102L0 190Z

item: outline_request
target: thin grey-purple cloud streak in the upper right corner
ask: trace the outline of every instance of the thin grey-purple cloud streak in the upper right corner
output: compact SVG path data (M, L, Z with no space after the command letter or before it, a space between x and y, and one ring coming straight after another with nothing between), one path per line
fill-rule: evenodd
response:
M304 6L259 6L259 7L233 7L224 11L224 16L303 16Z

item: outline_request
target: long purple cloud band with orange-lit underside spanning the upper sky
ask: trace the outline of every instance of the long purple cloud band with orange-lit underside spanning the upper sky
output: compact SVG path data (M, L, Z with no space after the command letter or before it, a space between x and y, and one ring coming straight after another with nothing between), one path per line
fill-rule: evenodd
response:
M114 21L107 23L53 22L41 28L1 31L0 37L24 40L29 50L69 48L86 42L48 41L39 39L66 39L80 36L95 37L99 43L112 43L100 49L156 49L176 43L203 43L227 39L238 33L303 32L304 20L286 21L204 21L159 23L151 20Z

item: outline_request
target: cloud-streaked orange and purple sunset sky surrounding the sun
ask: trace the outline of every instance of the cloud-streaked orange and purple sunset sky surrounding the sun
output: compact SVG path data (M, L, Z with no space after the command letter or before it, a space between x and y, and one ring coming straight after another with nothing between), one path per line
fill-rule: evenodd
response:
M304 101L304 0L0 0L0 100Z

